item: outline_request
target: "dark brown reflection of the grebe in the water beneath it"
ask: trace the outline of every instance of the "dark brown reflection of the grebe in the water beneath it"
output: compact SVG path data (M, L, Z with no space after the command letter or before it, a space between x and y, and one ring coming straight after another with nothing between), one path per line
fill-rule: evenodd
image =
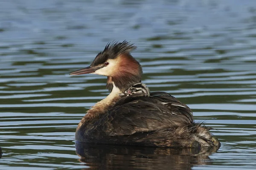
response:
M89 170L190 170L194 165L209 165L209 155L218 148L154 148L76 143L79 161Z

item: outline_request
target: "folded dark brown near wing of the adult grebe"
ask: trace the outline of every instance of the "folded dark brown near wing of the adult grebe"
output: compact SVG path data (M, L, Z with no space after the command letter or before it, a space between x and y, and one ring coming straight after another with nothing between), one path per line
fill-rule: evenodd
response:
M104 121L106 129L103 129L110 136L119 136L191 124L192 120L187 114L178 113L183 111L179 108L177 105L166 107L158 99L133 94L121 98L113 109L108 111L105 116L108 121Z

